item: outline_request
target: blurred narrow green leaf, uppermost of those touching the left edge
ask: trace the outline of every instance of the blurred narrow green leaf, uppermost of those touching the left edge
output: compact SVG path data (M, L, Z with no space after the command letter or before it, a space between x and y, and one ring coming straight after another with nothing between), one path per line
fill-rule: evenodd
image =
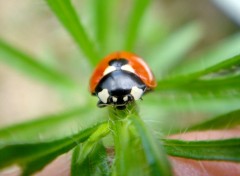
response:
M0 60L16 67L28 76L33 76L51 85L64 88L73 88L76 84L64 74L54 70L25 54L23 51L11 46L0 39Z

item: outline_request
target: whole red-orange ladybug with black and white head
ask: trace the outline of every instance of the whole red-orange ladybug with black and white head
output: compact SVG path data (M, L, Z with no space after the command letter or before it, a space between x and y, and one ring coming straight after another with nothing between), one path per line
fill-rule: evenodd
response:
M98 107L113 105L125 109L129 102L156 87L156 80L148 65L137 55L115 52L105 57L94 70L89 89L98 96Z

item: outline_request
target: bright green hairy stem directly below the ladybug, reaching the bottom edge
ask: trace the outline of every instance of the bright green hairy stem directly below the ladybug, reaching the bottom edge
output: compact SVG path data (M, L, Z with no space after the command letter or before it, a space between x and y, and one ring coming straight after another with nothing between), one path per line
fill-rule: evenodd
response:
M113 175L172 175L163 146L148 131L135 103L125 110L110 107L109 116L116 152Z

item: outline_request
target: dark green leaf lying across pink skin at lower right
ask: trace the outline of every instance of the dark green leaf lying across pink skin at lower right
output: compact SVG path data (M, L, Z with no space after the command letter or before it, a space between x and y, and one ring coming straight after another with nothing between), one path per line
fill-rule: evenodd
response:
M169 155L199 160L223 160L240 162L240 139L180 141L165 139L164 147Z

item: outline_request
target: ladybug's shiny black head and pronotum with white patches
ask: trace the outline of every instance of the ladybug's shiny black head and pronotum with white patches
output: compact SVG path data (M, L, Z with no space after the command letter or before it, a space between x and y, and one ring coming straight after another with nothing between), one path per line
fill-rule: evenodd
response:
M124 109L127 103L140 99L145 90L146 85L137 75L116 69L101 79L95 92L99 107L113 105Z

